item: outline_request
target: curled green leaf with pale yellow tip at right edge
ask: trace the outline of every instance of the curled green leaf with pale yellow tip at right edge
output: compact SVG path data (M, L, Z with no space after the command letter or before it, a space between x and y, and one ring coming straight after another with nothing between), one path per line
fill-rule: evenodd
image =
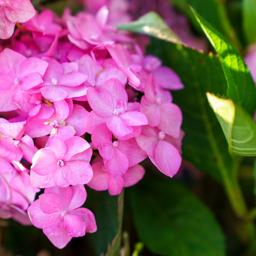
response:
M256 124L252 117L231 99L210 93L207 98L224 131L230 153L256 156Z

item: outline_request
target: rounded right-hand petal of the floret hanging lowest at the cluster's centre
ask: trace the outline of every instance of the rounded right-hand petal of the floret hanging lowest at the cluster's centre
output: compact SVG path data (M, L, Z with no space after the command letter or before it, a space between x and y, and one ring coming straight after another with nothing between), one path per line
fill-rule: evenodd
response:
M145 169L139 164L128 168L128 170L123 175L124 187L135 185L143 178L144 174Z

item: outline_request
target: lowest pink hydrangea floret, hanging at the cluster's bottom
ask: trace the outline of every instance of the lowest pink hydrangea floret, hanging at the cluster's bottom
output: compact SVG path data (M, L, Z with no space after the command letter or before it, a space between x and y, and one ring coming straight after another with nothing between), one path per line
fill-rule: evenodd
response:
M73 237L95 232L97 226L93 213L81 207L86 196L83 185L45 189L44 194L28 208L32 224L43 229L59 249L65 247Z

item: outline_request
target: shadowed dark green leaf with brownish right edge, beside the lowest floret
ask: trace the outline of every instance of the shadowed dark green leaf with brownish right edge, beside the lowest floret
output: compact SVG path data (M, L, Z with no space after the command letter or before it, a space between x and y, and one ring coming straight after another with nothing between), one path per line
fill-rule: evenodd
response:
M86 190L86 207L93 211L97 224L97 232L90 234L96 256L119 256L124 192L119 196L111 196L108 191Z

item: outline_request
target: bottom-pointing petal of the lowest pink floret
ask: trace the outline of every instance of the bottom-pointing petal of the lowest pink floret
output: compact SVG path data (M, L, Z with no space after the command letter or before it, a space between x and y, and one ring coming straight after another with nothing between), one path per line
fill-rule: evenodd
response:
M52 244L59 249L64 248L72 239L72 236L67 233L62 220L59 220L51 227L44 228L43 232Z

